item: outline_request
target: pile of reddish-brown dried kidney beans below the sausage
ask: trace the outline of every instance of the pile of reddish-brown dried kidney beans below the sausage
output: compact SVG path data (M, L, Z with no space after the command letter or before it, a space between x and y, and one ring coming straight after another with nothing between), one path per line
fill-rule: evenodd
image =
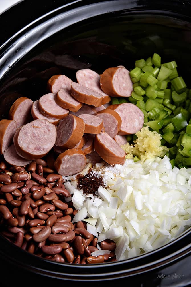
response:
M116 244L100 243L106 255L91 256L98 250L97 238L86 223L72 223L77 210L65 189L62 176L43 159L27 166L7 167L0 162L0 232L21 249L57 262L74 264L116 261Z

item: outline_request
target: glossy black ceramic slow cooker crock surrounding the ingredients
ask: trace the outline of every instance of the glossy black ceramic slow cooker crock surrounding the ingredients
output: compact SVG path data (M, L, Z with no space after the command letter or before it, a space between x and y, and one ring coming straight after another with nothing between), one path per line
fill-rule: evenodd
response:
M102 73L159 53L176 60L190 85L191 3L174 1L29 1L0 15L0 116L19 96L46 93L47 80L78 69ZM60 264L0 236L0 286L189 286L191 232L136 258L94 265ZM62 285L64 286L64 285Z

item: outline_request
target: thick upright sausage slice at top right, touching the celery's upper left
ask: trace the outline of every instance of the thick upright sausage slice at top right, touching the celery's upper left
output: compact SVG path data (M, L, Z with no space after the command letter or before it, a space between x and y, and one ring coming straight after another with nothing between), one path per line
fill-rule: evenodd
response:
M100 85L111 97L130 97L133 92L129 71L121 67L106 69L101 75Z

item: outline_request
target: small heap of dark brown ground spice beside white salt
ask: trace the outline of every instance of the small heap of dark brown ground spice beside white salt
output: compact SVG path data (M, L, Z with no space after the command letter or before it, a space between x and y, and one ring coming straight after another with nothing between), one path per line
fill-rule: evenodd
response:
M76 179L77 188L82 189L83 193L95 195L95 192L99 189L100 185L105 187L103 177L97 177L91 171L89 171L86 175L78 174Z

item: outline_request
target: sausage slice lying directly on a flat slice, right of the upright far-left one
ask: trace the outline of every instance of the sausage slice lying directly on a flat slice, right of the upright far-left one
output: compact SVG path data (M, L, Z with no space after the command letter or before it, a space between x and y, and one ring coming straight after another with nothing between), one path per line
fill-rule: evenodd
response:
M63 119L69 114L69 110L56 104L54 94L46 94L39 99L38 108L42 115L52 119Z

